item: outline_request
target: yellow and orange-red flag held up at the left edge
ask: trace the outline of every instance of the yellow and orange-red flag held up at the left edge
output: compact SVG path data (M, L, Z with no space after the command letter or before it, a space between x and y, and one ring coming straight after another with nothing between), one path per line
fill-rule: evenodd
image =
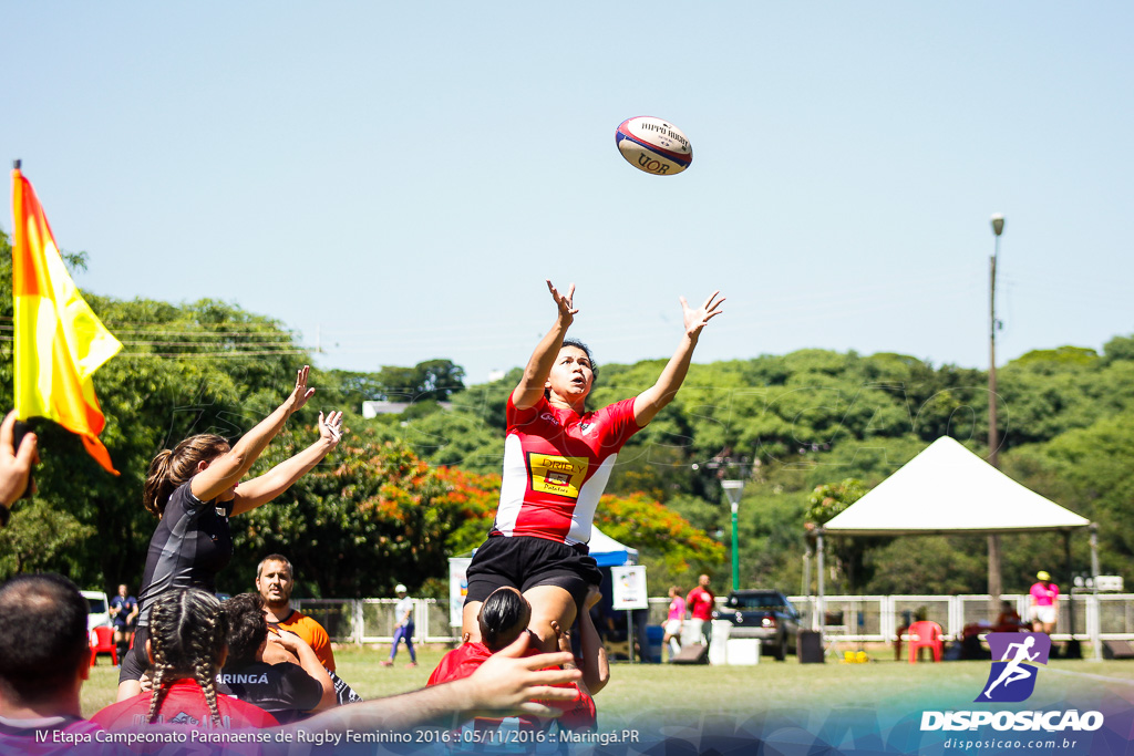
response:
M16 414L22 419L46 417L78 434L87 453L118 475L99 441L105 421L91 376L122 345L83 300L35 189L18 168L11 182Z

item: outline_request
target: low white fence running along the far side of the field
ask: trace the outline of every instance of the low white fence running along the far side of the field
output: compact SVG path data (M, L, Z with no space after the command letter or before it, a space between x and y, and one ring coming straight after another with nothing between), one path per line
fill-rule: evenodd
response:
M814 597L789 596L803 615L801 625L811 627ZM1027 619L1027 596L1005 595L1019 615ZM717 598L718 604L725 597ZM1069 604L1075 604L1075 635L1081 639L1090 637L1093 613L1090 611L1095 597L1076 594L1070 600L1059 597L1059 618L1056 623L1056 640L1070 638ZM1134 594L1099 594L1100 637L1103 640L1134 640ZM307 598L295 605L327 628L336 643L390 643L397 619L393 614L396 598ZM905 625L905 613L909 617L924 610L925 619L941 626L948 638L959 638L966 625L989 621L989 597L987 595L965 596L826 596L823 631L846 640L889 642L897 629ZM666 620L669 598L650 598L650 625L662 625ZM449 626L448 603L433 598L414 600L414 643L450 643L459 640L459 630Z

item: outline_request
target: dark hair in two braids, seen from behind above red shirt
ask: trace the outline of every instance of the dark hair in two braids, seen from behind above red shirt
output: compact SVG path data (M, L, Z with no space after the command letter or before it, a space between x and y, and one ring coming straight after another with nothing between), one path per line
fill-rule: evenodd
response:
M150 612L150 647L153 654L153 693L146 721L156 721L161 703L175 680L193 678L221 727L217 708L217 670L225 653L228 622L220 602L200 588L172 591L159 598Z

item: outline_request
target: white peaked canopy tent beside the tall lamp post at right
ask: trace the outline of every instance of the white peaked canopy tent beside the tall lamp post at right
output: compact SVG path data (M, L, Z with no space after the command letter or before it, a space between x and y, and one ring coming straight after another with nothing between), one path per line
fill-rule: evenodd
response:
M1091 523L1016 483L946 436L938 439L870 493L819 528L819 600L823 612L824 535L990 535L1073 529ZM1091 536L1092 572L1098 576ZM1098 602L1091 642L1097 659Z

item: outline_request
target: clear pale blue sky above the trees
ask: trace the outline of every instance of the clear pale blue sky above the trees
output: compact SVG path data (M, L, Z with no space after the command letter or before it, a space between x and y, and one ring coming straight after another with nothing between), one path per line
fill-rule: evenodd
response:
M3 160L81 287L215 297L324 367L523 364L577 283L602 362L988 364L1134 331L1126 2L2 0ZM680 126L642 173L615 128ZM10 164L10 163L8 163ZM10 182L3 185L10 206ZM0 215L10 230L10 214Z

